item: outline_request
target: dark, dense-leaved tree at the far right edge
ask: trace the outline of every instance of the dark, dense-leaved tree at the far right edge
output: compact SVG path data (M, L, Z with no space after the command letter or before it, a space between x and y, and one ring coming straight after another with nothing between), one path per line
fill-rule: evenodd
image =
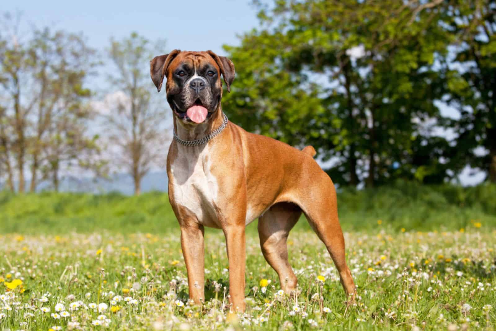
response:
M496 183L496 1L452 2L444 5L442 25L452 37L442 62L443 100L460 113L449 123L457 134L457 158Z

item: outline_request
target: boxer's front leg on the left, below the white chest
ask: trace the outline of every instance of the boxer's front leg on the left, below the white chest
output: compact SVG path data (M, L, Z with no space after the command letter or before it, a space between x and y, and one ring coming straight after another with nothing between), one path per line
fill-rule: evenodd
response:
M195 303L205 300L204 228L196 222L181 224L181 248L185 258L189 298Z

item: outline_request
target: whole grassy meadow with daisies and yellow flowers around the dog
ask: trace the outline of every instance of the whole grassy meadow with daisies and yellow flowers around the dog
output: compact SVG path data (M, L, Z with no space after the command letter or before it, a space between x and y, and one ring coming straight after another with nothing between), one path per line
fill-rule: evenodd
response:
M398 182L338 195L347 305L324 245L291 232L296 295L247 235L247 311L227 320L223 234L205 233L206 301L187 301L166 194L0 193L0 330L495 330L496 187Z

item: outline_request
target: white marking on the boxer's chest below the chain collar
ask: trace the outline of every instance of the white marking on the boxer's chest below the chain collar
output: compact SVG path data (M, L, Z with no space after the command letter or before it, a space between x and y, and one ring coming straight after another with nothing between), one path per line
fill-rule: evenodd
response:
M187 208L203 225L215 226L214 202L219 188L210 171L208 145L185 148L187 150L182 148L171 165L174 201Z

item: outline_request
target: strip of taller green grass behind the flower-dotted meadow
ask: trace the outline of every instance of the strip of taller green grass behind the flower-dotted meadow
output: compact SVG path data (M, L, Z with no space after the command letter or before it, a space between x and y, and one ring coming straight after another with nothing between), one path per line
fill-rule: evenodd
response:
M394 230L458 230L474 222L492 227L496 226L495 195L494 184L464 188L397 181L365 190L343 188L338 190L339 217L345 230L374 229L378 220ZM304 217L296 227L310 230ZM165 193L133 197L118 193L0 193L1 233L164 233L171 229L179 227ZM256 231L256 221L248 231Z

